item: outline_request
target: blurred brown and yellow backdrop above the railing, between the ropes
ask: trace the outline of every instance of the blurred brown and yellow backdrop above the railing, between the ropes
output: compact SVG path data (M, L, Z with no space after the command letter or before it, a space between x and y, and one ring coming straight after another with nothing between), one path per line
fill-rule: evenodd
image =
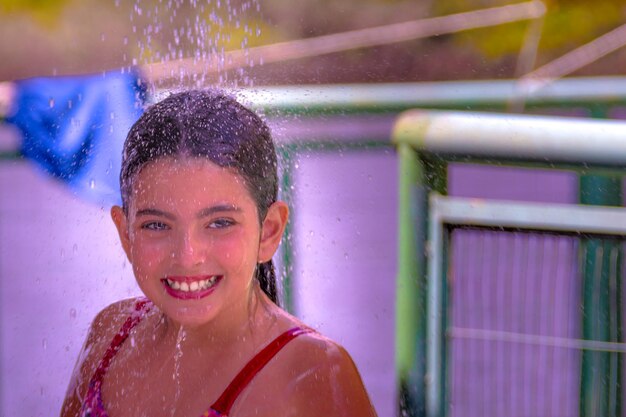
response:
M94 73L516 3L522 2L3 0L0 79ZM619 26L625 13L619 0L544 4L537 66ZM514 22L246 72L256 84L513 78L527 31L528 22ZM573 75L619 75L625 55L616 51Z

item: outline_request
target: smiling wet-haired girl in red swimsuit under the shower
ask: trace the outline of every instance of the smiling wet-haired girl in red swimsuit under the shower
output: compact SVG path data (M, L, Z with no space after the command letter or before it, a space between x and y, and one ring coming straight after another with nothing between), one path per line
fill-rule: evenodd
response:
M111 216L145 298L95 318L62 417L375 416L348 353L277 305L276 152L218 91L152 106Z

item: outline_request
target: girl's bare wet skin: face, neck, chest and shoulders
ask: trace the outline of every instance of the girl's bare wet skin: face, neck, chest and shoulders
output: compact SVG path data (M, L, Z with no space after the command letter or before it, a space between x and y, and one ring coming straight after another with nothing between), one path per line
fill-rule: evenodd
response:
M274 255L287 216L277 202L260 222L243 179L205 160L162 159L136 176L127 215L114 207L112 217L137 282L156 308L133 329L105 376L110 417L200 416L256 352L303 326L253 278L256 264ZM183 291L183 284L195 291ZM80 397L133 305L116 303L94 320L63 417L79 415ZM313 333L279 352L231 415L375 412L350 356Z

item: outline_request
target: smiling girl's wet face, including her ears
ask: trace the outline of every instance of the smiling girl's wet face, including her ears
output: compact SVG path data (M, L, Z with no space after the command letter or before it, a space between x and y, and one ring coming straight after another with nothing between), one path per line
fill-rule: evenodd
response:
M114 207L112 217L144 294L169 318L197 326L247 305L256 264L274 254L287 209L275 203L261 225L231 170L163 158L136 175L127 215Z

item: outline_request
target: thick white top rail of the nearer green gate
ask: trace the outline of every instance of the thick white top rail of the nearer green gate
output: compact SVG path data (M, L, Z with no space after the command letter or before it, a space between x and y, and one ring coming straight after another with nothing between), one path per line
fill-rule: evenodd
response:
M393 141L457 157L626 167L626 122L616 120L410 110Z

